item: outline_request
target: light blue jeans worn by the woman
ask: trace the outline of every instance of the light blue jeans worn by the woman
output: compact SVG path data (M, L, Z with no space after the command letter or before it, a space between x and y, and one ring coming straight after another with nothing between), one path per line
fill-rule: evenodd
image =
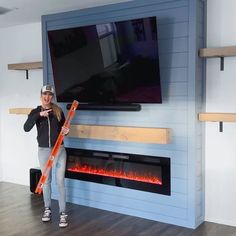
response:
M48 157L51 154L52 148L38 148L38 159L40 164L40 169L43 172ZM66 211L66 191L65 191L65 170L66 170L66 150L64 146L61 146L56 158L54 159L53 168L55 168L56 184L58 188L58 202L59 202L59 212ZM52 170L49 172L49 176L43 185L43 199L44 206L51 208L51 182L52 182Z

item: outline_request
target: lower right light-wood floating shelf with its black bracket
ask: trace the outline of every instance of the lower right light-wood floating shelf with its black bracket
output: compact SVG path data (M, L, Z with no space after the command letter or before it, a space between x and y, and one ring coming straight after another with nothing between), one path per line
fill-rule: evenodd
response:
M199 113L198 119L200 121L219 122L219 131L223 132L223 122L236 122L236 113Z

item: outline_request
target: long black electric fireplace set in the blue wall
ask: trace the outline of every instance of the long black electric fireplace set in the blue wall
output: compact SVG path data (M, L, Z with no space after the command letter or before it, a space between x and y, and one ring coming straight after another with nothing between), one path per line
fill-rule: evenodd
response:
M170 158L66 150L66 178L170 195Z

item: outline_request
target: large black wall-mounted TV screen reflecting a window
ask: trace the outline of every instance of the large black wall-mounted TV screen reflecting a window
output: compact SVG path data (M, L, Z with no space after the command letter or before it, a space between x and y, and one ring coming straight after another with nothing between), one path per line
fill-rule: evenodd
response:
M161 103L156 17L48 31L58 102Z

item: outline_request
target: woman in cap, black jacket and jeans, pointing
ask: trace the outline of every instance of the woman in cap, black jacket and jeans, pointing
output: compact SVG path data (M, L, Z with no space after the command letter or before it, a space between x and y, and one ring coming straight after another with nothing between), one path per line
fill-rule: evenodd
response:
M53 103L54 88L51 85L45 85L40 92L41 105L33 109L24 124L25 132L29 132L34 125L37 127L38 141L38 160L40 169L43 172L48 157L56 143L57 137L62 130L63 135L69 133L69 129L63 127L65 116L62 109ZM66 169L66 150L61 145L57 157L54 159L54 168L56 175L56 184L58 189L58 203L60 222L59 227L67 227L68 221L66 214L66 192L65 192L65 169ZM43 222L51 220L51 179L52 170L50 170L47 181L43 185L44 212Z

